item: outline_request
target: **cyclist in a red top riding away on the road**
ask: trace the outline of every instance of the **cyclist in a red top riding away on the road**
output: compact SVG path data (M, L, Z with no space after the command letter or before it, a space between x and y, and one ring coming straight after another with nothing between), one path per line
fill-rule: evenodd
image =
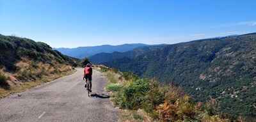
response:
M86 82L88 81L88 84L90 84L90 93L92 93L92 64L88 63L85 67L84 67L84 77L83 79L86 80ZM86 88L86 83L85 83L85 88Z

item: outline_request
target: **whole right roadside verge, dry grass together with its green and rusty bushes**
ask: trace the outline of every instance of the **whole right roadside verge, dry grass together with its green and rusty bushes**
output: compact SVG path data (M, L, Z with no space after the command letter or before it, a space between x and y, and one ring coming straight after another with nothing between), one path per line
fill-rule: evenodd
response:
M230 121L216 113L214 99L195 103L181 88L104 66L100 70L108 78L111 101L120 108L120 121Z

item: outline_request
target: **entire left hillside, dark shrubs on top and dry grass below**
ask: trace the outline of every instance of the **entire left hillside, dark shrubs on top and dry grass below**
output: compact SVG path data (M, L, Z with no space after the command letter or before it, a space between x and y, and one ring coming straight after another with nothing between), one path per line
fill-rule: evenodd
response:
M74 71L77 59L49 45L0 34L0 97Z

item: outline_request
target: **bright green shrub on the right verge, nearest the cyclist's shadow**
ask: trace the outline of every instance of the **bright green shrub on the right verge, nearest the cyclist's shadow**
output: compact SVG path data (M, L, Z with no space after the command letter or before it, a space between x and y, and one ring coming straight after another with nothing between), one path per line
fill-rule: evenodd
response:
M131 77L131 79L134 78ZM114 91L113 101L119 107L132 110L143 109L152 118L158 117L155 107L164 102L166 93L158 82L147 79L130 80L123 86L109 84L107 89Z

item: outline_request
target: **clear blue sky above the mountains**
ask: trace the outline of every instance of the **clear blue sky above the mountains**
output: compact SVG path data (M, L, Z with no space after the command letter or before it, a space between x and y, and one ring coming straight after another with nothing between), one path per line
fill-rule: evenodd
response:
M255 0L0 0L0 33L52 47L179 43L256 32Z

